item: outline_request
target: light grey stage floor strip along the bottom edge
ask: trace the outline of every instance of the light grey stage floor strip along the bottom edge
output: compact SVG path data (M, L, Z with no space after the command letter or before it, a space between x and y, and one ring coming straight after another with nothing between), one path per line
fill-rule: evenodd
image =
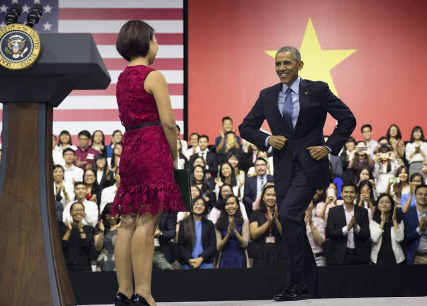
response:
M389 298L353 298L353 299L316 299L297 302L259 301L216 301L216 302L174 302L157 303L157 306L426 306L427 297L389 297ZM113 306L102 304L93 306Z

